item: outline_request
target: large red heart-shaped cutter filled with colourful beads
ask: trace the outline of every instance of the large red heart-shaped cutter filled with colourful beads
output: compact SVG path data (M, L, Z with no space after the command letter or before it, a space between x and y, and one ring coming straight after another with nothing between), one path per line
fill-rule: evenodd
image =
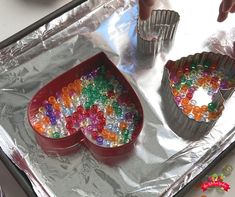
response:
M133 148L143 109L125 77L100 53L40 89L28 119L47 154L69 154L85 144L97 158L113 160Z

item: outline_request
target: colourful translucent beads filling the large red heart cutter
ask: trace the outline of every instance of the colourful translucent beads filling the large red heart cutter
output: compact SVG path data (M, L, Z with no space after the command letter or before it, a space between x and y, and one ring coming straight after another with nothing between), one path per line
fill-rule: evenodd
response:
M116 147L132 140L140 116L125 88L101 66L44 100L32 125L48 138L82 131L96 145Z

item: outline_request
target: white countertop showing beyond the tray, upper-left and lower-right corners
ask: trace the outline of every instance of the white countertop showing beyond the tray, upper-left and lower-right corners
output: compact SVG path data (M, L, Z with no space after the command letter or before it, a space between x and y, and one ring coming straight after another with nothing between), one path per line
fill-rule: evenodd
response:
M1 0L0 6L0 42L24 29L40 18L50 14L71 0ZM230 164L235 169L235 150L213 168L210 174L221 173L222 168ZM186 197L234 197L235 196L235 170L225 178L230 184L228 192L219 192L216 189L202 192L200 188L193 187ZM205 180L205 178L204 178Z

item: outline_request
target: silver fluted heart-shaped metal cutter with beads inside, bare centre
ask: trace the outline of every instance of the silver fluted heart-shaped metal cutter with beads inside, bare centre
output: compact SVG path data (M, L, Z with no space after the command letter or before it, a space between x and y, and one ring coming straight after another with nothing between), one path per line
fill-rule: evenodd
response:
M198 140L222 114L234 92L235 60L203 52L168 61L160 92L170 128L180 137Z

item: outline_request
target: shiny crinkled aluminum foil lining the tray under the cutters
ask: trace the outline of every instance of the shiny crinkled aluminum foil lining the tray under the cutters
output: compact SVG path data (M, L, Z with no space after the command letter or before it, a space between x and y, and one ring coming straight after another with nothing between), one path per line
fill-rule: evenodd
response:
M168 59L202 51L233 55L235 18L217 23L219 3L159 0L159 8L177 11L181 20L171 50L151 61L136 53L138 6L132 0L88 1L0 51L0 146L38 196L173 196L234 142L235 95L211 132L191 142L168 127L158 91ZM144 108L134 154L115 166L85 148L48 157L29 126L28 103L46 83L100 51L125 73Z

